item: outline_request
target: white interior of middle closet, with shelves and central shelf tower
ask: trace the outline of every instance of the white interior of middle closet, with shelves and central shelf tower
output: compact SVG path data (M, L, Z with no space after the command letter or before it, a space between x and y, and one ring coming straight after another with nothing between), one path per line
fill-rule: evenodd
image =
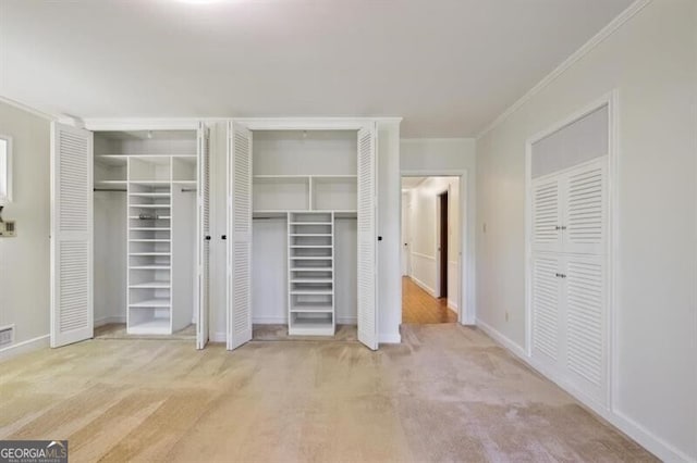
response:
M356 324L357 132L253 130L252 321Z

